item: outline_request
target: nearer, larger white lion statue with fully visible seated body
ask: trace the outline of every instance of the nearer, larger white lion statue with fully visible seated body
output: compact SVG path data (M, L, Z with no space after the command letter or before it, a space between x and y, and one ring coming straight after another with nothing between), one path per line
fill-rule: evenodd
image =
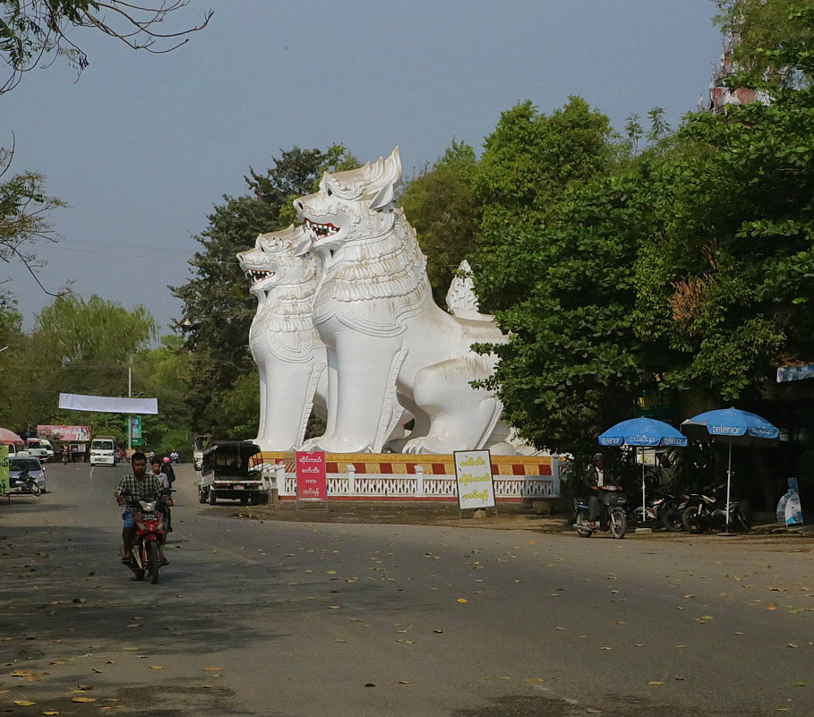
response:
M454 316L433 302L416 233L395 206L400 177L394 149L326 173L319 192L294 202L305 229L297 253L321 261L313 326L328 362L327 429L305 449L381 452L405 409L415 427L389 447L406 453L490 448L507 433L498 398L470 385L496 361L470 346L506 338L491 317Z

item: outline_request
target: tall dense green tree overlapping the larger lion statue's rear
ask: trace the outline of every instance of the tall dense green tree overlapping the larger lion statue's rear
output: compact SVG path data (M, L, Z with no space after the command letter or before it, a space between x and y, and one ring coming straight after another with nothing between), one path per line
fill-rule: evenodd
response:
M501 116L477 176L476 290L510 335L479 347L500 359L487 385L524 438L575 453L626 417L642 375L630 322L634 175L613 138L580 98L550 117L524 103Z

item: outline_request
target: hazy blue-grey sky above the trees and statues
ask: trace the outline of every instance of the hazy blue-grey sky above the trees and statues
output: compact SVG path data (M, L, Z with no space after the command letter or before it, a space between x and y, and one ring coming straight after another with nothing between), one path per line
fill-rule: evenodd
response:
M480 151L503 110L544 113L580 95L617 130L664 107L671 124L706 95L720 55L712 0L191 0L177 21L210 26L168 55L91 30L78 81L61 61L0 97L13 170L47 176L51 216L39 278L73 282L168 333L197 235L222 196L245 193L281 150L342 143L362 160L401 151L406 174L454 138ZM0 266L26 328L51 298Z

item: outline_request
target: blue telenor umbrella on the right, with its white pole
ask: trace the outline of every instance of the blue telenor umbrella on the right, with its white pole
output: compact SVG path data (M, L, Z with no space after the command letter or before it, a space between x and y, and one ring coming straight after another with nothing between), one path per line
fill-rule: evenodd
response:
M729 444L726 466L726 531L729 532L729 499L732 489L732 447L774 446L780 431L758 414L734 406L707 411L681 423L681 432L692 440L725 440Z

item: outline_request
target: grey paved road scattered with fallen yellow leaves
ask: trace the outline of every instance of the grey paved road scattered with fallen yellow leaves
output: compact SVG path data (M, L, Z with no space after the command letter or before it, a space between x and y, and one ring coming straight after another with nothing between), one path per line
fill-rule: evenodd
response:
M181 466L150 585L118 564L123 474L0 502L0 712L814 714L810 543L239 520Z

